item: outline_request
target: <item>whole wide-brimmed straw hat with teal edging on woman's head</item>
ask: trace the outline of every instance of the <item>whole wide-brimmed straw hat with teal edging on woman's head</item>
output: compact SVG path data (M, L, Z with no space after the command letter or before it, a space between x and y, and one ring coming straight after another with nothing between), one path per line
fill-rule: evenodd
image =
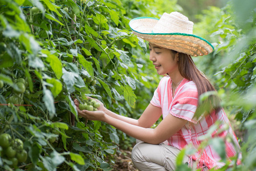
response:
M193 25L178 12L164 13L160 19L139 17L129 22L133 34L157 46L191 56L209 54L214 47L204 38L193 35Z

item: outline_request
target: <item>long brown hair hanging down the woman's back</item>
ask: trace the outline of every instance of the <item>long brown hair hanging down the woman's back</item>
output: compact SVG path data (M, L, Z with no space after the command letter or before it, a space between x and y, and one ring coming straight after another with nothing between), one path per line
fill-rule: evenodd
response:
M176 53L176 51L174 51L174 53ZM199 112L197 114L200 115L200 113L210 113L213 110L216 112L220 111L220 97L217 96L217 93L212 93L200 104L199 98L203 93L210 91L216 92L216 89L213 84L210 83L209 79L198 70L191 56L178 52L178 58L178 70L180 71L181 76L193 81L197 87L198 107L196 113Z

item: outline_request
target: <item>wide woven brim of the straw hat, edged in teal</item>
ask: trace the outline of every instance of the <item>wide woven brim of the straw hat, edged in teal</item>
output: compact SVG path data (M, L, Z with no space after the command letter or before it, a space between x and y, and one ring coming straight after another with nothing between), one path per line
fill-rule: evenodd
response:
M191 56L208 55L214 47L208 40L194 34L180 32L156 33L152 28L159 21L157 18L139 17L129 22L133 34L147 40L149 43L182 52Z

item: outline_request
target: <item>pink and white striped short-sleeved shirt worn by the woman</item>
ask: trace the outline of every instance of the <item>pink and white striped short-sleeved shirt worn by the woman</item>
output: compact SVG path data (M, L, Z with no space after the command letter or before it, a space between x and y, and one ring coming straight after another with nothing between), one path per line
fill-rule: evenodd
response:
M230 160L230 157L237 154L237 149L240 149L237 137L235 136L229 119L222 109L220 112L212 112L207 116L200 116L198 119L194 117L194 113L197 108L198 92L196 84L193 81L187 79L182 80L180 85L176 88L174 97L172 96L172 80L169 76L165 76L161 79L159 86L157 87L154 96L151 100L151 104L162 109L162 117L165 118L169 113L175 117L188 120L188 123L181 128L176 134L168 139L169 145L172 145L178 149L184 148L186 145L192 145L192 148L197 149L197 152L190 156L190 161L198 161L198 168L203 165L208 168L221 168L225 164L220 162L221 157L213 149L211 145L206 146L204 150L200 150L199 146L201 141L198 137L206 135L209 128L221 121L221 124L217 128L218 130L224 128L225 131L217 133L215 129L212 133L212 137L228 137L233 139L233 143L225 141L226 145L226 158ZM227 128L227 129L225 129Z

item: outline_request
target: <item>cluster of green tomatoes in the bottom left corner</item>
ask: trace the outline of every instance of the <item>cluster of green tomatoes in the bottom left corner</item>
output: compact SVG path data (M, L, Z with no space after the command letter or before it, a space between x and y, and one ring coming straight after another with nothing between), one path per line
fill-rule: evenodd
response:
M0 146L0 157L8 160L6 163L9 166L17 166L19 162L27 160L27 152L23 149L21 139L12 139L8 133L2 133L0 135Z

